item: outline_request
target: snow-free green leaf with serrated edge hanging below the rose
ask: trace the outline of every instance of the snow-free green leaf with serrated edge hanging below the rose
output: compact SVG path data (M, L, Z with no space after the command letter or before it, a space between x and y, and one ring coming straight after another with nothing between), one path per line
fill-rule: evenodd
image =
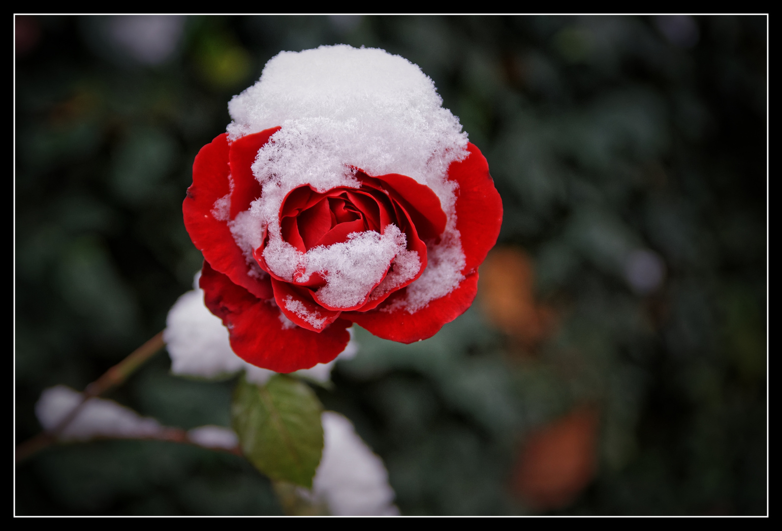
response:
M242 451L269 478L312 486L323 451L323 407L307 384L282 374L264 387L239 380L231 418Z

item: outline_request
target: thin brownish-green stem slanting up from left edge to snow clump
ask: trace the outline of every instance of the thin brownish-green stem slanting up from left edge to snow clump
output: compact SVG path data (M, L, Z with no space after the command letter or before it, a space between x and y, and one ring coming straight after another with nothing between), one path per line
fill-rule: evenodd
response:
M124 358L121 362L114 365L111 369L103 373L98 380L90 383L81 394L81 401L65 415L63 420L57 424L53 429L49 429L38 433L35 437L27 439L22 444L16 447L16 462L23 461L29 458L30 455L38 453L54 444L57 440L59 433L65 429L72 420L76 418L78 412L84 407L84 404L93 397L98 397L112 387L118 386L127 380L128 376L131 376L136 369L141 367L144 362L152 355L155 355L161 348L163 348L165 342L163 341L163 332L156 333L151 339L149 339L141 347L138 347L135 351L131 352L127 358Z

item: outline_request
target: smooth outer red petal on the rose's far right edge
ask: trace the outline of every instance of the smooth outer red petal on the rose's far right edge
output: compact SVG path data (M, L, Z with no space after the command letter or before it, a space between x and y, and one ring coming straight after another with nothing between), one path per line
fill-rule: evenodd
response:
M467 159L454 162L448 169L448 178L459 184L456 228L467 260L463 275L478 269L497 242L502 225L502 200L489 175L489 164L475 145L468 143L467 148Z

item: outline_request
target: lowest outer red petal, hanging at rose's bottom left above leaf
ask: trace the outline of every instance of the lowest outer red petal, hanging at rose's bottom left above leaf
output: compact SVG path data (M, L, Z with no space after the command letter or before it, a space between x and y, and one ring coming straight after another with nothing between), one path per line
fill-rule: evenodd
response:
M203 265L199 283L206 294L206 307L228 327L233 351L258 367L275 372L309 369L332 361L350 340L346 330L350 322L345 319L337 319L321 333L285 329L278 308L253 297L208 263Z

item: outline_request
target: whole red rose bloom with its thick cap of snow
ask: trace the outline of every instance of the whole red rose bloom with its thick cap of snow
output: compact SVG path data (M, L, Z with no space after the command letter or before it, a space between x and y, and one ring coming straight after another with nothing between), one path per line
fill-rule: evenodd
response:
M183 211L239 357L292 372L335 358L352 323L411 343L465 312L502 205L418 66L344 45L282 52L229 110Z

